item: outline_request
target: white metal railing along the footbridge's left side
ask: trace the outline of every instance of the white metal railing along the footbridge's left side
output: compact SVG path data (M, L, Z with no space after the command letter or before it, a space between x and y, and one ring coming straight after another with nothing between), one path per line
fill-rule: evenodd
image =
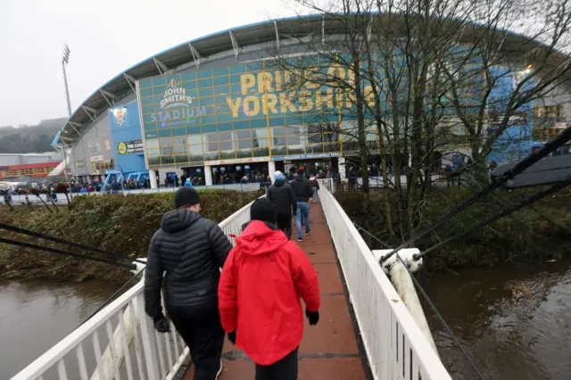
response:
M219 224L227 236L241 234L251 205ZM230 241L234 244L234 239ZM172 322L169 334L156 332L153 320L145 314L143 291L141 280L12 380L171 380L189 351ZM104 353L102 346L107 347Z

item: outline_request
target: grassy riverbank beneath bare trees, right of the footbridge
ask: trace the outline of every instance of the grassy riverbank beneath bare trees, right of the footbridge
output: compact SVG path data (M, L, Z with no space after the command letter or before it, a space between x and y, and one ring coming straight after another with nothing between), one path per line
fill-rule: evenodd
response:
M484 202L476 203L458 216L437 227L433 233L418 240L416 247L421 251L437 244L476 222L491 217L502 208L521 202L539 189L507 192L498 190ZM364 196L360 191L343 191L335 194L349 217L362 227L373 232L380 240L395 247L401 244L401 237L390 235L386 230L383 208L388 198L397 218L398 205L393 202L392 192L372 191ZM432 224L460 202L468 199L466 188L450 190L435 189L426 199L416 205L417 231ZM438 250L428 253L428 269L493 266L501 262L522 260L559 259L568 254L571 244L571 191L564 189L555 196L546 198L500 219L488 227L459 237ZM372 249L385 248L368 235L363 238Z

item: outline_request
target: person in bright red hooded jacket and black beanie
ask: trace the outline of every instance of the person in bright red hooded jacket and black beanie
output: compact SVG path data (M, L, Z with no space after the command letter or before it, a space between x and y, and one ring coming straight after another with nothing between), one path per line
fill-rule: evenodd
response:
M220 321L230 342L256 363L256 380L295 380L303 335L300 296L310 325L317 325L318 275L277 227L272 202L253 202L250 217L220 274Z

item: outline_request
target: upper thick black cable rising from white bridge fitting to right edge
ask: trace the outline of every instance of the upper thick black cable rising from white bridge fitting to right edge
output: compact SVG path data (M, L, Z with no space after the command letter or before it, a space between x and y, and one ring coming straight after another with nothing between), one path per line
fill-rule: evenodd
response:
M433 231L436 227L440 226L444 221L451 219L451 217L453 217L454 215L458 214L461 211L466 210L469 206L478 202L479 200L484 198L484 196L492 193L492 191L494 191L496 188L508 182L509 179L516 177L525 169L532 166L535 162L540 161L543 157L557 150L559 146L564 145L565 143L567 143L568 140L571 140L571 127L567 127L566 129L564 129L563 132L559 134L559 136L547 142L535 153L532 153L527 157L525 157L524 160L517 162L517 164L513 168L508 169L500 177L492 178L492 183L490 185L484 187L483 190L479 191L477 194L472 195L470 198L468 198L468 200L460 203L459 205L451 209L451 211L446 212L442 218L436 220L432 225L426 227L424 230L420 231L417 235L410 237L409 240L402 243L398 247L394 248L393 251L387 253L384 257L381 258L381 262L387 260L388 258L393 256L394 253L399 252L402 248L406 247L407 245L417 241L420 237Z

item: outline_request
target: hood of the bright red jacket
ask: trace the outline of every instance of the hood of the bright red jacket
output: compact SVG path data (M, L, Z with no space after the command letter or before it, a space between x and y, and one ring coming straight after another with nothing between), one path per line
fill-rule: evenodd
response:
M250 255L277 251L287 242L288 239L281 230L272 229L261 220L252 220L244 233L236 237L236 247Z

